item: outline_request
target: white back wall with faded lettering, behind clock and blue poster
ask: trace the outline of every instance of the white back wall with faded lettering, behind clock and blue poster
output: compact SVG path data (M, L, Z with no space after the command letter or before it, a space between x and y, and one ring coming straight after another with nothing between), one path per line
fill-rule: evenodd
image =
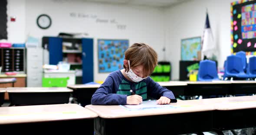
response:
M16 39L24 41L28 35L41 40L43 36L56 36L59 32L88 33L87 37L94 38L94 81L105 80L108 76L108 73L98 73L98 38L129 39L130 45L145 42L158 52L159 60L163 59L164 11L158 8L89 3L85 0L8 1L10 14L25 18L22 23L15 22L16 26L24 28L20 29L21 33L25 33L21 37L21 34L14 34L16 30L13 26L8 29L10 42ZM52 18L52 26L46 30L36 25L37 16L43 13Z

